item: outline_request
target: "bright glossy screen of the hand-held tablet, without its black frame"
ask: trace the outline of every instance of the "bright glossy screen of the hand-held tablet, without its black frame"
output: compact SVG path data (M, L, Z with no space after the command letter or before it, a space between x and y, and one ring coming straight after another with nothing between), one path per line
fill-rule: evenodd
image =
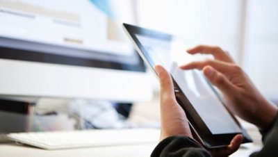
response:
M196 60L196 56L186 53L181 40L140 34L136 34L136 38L147 52L144 56L150 65L163 65L170 72L212 134L241 132L202 72L179 68Z

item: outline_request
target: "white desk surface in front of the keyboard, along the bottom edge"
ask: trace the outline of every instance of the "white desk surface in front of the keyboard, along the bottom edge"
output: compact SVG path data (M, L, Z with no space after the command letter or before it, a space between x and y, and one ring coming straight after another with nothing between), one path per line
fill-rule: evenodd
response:
M88 147L80 149L44 150L21 144L0 144L0 156L3 157L88 157L88 156L150 156L156 146L153 144L133 144L113 147Z

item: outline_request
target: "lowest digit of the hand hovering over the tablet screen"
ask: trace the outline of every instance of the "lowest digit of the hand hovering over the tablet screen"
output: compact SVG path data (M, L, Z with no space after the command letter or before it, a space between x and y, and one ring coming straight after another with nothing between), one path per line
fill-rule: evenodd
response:
M211 66L206 66L203 69L203 73L208 78L213 85L220 89L224 94L231 92L231 88L234 88L234 85L220 72L216 69L213 69Z

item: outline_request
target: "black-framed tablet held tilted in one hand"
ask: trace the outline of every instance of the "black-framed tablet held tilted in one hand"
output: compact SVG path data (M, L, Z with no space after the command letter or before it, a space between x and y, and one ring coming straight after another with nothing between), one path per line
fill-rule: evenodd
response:
M130 24L123 26L136 50L153 72L156 65L162 65L170 72L176 99L188 117L195 138L204 147L225 147L238 133L243 134L243 142L252 142L202 72L179 68L179 65L196 60L196 56L186 53L184 42L167 33Z

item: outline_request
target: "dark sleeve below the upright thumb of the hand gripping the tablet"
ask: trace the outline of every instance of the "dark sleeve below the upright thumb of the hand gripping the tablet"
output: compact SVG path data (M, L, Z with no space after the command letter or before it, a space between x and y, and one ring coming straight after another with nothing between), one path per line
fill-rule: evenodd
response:
M187 136L171 136L161 141L154 151L152 157L155 156L211 156L211 154L202 148L195 140Z

